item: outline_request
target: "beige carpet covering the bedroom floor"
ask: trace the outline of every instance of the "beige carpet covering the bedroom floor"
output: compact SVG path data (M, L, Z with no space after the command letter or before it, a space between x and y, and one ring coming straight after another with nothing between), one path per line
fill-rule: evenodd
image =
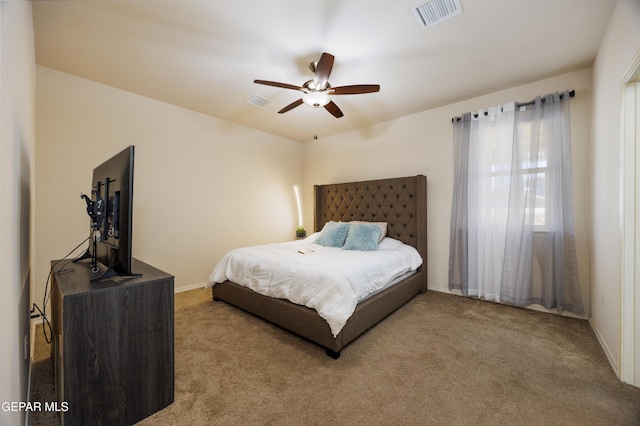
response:
M434 291L339 360L202 290L176 295L175 335L175 402L141 425L640 424L586 321ZM53 400L48 356L39 330L34 400Z

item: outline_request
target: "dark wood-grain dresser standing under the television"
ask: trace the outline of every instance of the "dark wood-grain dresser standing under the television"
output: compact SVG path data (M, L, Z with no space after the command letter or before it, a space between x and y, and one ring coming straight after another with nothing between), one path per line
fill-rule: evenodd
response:
M136 259L132 272L142 275L91 283L88 261L54 268L52 357L65 426L131 425L173 403L173 276Z

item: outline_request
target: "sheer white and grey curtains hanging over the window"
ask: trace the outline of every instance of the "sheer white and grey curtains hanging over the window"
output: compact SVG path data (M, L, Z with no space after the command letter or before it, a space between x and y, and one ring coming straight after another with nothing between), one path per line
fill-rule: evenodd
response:
M454 122L449 288L584 312L575 253L569 93Z

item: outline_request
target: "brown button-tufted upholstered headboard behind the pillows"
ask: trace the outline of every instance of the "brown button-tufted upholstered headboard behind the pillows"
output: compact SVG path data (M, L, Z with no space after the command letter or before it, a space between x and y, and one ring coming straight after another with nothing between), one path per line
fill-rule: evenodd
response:
M387 236L415 247L426 272L426 176L315 185L314 192L315 231L330 220L387 222Z

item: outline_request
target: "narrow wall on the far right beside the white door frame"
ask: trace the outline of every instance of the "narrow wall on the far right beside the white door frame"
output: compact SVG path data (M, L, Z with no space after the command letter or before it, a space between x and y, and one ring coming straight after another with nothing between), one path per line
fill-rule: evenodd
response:
M640 2L620 0L593 67L591 323L619 372L622 78L640 52ZM605 302L602 303L602 293ZM597 300L597 303L596 303Z

